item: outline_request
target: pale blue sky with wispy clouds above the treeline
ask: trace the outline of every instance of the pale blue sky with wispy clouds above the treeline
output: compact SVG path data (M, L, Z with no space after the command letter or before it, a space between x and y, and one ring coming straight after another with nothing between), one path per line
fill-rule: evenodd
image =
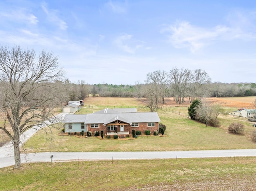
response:
M133 85L174 67L256 83L256 2L0 0L0 45L52 51L72 83Z

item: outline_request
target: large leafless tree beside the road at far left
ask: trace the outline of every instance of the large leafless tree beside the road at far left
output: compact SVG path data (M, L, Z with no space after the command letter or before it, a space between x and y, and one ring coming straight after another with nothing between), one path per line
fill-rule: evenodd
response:
M43 50L36 57L34 50L0 47L0 130L12 140L15 168L20 167L21 134L53 116L53 100L59 94L53 82L63 74L52 52Z

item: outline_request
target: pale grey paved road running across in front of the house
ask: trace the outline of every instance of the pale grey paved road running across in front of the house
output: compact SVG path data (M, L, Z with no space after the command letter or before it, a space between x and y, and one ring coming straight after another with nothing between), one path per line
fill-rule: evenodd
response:
M256 149L248 150L203 150L203 151L167 151L167 152L46 152L22 154L22 163L53 162L68 160L112 160L112 159L176 159L256 156ZM0 168L14 165L13 156L0 158Z

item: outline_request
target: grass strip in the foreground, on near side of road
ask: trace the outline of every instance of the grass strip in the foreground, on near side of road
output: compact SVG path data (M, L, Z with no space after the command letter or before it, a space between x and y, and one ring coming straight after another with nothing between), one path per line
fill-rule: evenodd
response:
M1 191L253 191L256 158L73 161L0 169Z

